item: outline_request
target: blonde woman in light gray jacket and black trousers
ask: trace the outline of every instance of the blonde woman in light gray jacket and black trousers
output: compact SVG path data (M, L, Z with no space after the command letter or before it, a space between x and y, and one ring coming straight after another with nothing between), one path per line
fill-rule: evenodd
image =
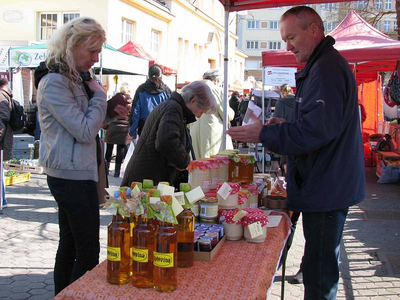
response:
M98 61L104 42L105 32L97 21L75 18L47 41L46 60L34 74L41 128L39 162L58 205L55 294L98 264L96 181L102 157L96 135L107 102L88 70ZM126 115L128 110L119 105L115 111Z

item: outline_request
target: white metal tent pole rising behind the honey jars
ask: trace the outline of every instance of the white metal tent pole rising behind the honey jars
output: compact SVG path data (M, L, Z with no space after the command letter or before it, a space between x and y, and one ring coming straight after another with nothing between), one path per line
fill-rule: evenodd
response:
M222 150L226 148L226 129L228 121L228 38L229 38L229 6L225 5L225 24L224 24L224 53L223 53L223 131L222 131Z

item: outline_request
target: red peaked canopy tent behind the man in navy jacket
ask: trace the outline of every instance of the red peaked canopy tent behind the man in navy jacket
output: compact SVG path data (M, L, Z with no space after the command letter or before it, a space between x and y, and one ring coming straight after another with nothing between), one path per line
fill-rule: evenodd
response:
M330 33L333 45L354 69L357 83L376 80L377 71L392 71L400 57L400 41L392 39L368 24L354 10ZM263 66L295 66L293 53L286 50L262 51Z

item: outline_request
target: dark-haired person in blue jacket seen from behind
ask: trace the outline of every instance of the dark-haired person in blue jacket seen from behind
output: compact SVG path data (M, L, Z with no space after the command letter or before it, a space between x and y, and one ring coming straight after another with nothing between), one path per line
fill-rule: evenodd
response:
M136 134L140 135L144 122L151 110L169 98L171 90L162 82L162 68L154 63L148 68L148 79L140 84L132 100L129 120L129 136L133 141Z

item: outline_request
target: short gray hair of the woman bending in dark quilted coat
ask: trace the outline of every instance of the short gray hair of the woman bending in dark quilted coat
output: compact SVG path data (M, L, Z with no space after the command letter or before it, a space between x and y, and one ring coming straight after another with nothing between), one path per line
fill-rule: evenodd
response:
M187 104L192 98L203 113L213 114L216 112L216 100L209 86L203 81L193 81L182 87L182 98Z

